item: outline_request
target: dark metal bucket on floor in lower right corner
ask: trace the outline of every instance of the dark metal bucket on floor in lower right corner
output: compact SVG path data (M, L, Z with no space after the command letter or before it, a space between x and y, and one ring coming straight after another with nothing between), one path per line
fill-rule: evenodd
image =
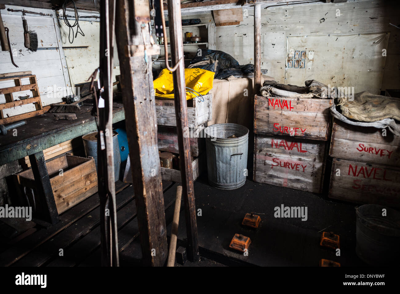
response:
M382 216L386 209L386 216ZM400 213L381 205L356 208L356 253L371 265L397 265L400 261Z

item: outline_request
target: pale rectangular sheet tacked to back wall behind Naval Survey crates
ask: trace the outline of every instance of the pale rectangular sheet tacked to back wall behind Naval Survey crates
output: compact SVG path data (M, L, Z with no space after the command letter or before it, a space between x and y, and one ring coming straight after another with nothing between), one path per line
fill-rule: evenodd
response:
M288 37L286 54L305 51L305 68L286 68L286 83L304 85L316 79L329 81L331 86L354 87L355 93L369 91L379 94L389 34L356 34L348 36ZM309 52L314 52L312 60ZM301 59L298 59L301 60Z

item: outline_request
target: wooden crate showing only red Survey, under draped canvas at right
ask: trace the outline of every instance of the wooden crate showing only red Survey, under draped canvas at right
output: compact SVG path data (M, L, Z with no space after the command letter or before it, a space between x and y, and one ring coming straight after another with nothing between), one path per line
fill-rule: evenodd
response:
M357 161L400 166L400 137L386 129L357 127L334 120L330 156Z

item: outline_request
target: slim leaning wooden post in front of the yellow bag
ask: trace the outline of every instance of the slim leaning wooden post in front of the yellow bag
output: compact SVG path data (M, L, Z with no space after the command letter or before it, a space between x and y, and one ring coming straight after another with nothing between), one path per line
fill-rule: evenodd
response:
M178 146L180 158L180 171L182 177L183 197L185 199L186 234L188 237L188 258L198 261L198 240L196 204L194 202L192 161L190 157L190 138L184 137L188 129L188 113L186 109L186 83L183 57L182 17L180 0L168 0L168 18L170 27L171 59L174 66L179 62L178 68L173 73L176 129L178 133Z

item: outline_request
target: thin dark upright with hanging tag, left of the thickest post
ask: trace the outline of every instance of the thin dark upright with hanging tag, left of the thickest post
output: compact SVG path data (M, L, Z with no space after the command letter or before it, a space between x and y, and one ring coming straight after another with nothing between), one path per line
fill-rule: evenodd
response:
M97 139L102 266L118 266L114 149L112 142L112 40L115 0L100 5L100 91ZM102 92L102 93L101 93ZM103 103L104 102L104 103Z

